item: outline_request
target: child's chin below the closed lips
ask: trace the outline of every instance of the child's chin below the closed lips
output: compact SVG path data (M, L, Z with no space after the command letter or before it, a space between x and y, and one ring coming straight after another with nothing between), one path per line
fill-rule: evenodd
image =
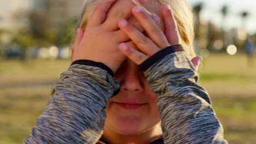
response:
M116 105L108 105L106 113L104 127L119 135L139 135L161 121L156 105L145 105L137 110L123 110Z

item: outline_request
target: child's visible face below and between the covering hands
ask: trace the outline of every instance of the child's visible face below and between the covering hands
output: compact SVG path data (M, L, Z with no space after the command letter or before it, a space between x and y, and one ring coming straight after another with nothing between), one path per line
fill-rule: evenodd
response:
M161 8L156 7L154 1L148 1L145 7L161 17ZM135 17L131 17L129 21L136 27L140 27ZM160 25L162 28L162 22ZM135 47L131 41L129 45ZM138 65L126 59L115 73L115 78L119 81L121 90L108 100L104 131L110 130L121 135L137 135L153 127L159 129L161 119L156 105L157 95L151 91ZM123 103L123 106L120 103Z

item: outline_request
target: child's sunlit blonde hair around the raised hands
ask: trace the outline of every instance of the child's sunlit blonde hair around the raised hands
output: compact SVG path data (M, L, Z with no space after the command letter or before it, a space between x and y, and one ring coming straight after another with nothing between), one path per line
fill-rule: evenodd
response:
M82 14L80 16L80 20L78 21L78 27L85 29L88 18L95 8L96 4L100 0L85 0L84 7ZM137 5L140 5L142 8L143 6L139 4L137 0L132 0ZM153 1L153 0L150 0ZM160 6L163 4L169 4L172 10L172 13L176 19L178 31L181 37L181 44L185 49L185 52L189 56L190 59L195 57L195 51L193 46L194 41L194 20L193 20L193 13L191 11L191 7L184 1L184 0L154 0L158 2ZM145 8L143 8L147 11ZM149 14L150 11L147 11Z

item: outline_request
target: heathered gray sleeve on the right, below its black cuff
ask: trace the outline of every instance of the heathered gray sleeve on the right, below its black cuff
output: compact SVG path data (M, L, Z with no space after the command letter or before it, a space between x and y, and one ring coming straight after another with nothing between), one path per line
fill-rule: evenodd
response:
M165 143L228 143L205 89L185 52L171 53L144 71L153 92Z

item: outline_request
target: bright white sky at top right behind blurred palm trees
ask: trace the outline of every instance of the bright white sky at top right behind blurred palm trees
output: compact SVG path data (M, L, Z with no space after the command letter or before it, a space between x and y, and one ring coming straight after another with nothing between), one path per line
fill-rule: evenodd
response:
M256 1L255 0L186 0L191 4L199 2L204 3L201 16L203 19L210 20L216 25L220 26L222 23L222 15L220 10L223 5L229 6L229 14L225 21L227 29L241 27L242 21L240 17L241 11L248 11L250 13L247 21L245 22L246 30L249 34L256 33Z

